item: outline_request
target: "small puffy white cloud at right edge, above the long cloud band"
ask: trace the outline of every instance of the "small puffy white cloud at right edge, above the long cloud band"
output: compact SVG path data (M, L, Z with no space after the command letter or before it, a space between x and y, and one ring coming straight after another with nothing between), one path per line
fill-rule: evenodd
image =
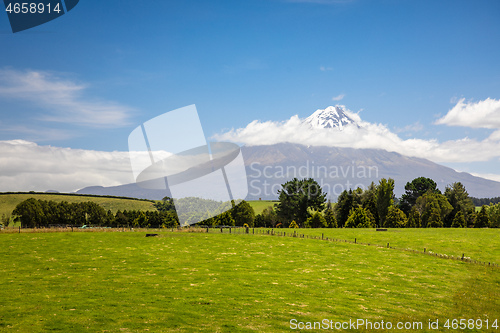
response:
M462 98L436 124L500 129L500 100L487 98L474 103Z

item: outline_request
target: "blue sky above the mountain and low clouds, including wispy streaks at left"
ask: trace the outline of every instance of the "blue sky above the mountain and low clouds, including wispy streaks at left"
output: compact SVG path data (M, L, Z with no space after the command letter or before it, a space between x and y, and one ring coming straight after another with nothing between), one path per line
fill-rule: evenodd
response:
M190 104L207 137L237 140L339 103L401 140L495 149L486 118L436 121L500 100L499 17L496 0L81 0L12 34L0 13L0 140L125 152L139 124ZM434 160L500 174L495 154Z

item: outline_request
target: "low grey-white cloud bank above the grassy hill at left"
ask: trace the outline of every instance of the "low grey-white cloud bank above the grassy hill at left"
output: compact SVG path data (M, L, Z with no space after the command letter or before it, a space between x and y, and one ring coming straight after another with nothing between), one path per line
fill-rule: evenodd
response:
M0 191L73 192L134 182L128 152L103 152L0 141Z

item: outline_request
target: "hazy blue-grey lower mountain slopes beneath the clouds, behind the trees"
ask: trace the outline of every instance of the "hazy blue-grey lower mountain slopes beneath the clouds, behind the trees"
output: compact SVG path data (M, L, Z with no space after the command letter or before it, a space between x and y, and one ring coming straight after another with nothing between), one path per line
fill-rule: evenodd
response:
M280 143L242 147L248 176L247 199L276 199L280 184L297 177L315 178L332 200L349 188L367 187L381 178L395 180L395 194L401 196L407 182L417 177L432 178L441 191L461 182L474 197L500 196L500 183L436 164L381 149L306 147ZM161 199L164 191L147 190L136 184L87 187L77 193Z

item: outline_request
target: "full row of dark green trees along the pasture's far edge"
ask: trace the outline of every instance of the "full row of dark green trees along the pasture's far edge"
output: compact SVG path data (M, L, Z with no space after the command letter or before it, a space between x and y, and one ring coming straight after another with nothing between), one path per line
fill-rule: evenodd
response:
M326 200L321 186L312 178L294 178L281 185L277 204L255 214L251 205L241 201L229 209L220 203L202 202L217 215L204 218L199 209L188 221L204 226L300 227L300 228L440 228L500 227L500 203L483 205L476 211L465 187L454 183L444 193L430 178L419 177L405 186L401 198L394 195L394 180L381 179L366 188L343 191L336 203ZM196 204L186 198L185 205ZM223 203L231 204L231 203ZM219 206L218 206L219 205ZM124 210L113 214L94 202L68 203L27 199L19 203L13 216L23 227L52 225L102 227L177 227L179 219L171 198L154 203L156 211ZM201 214L201 215L199 215ZM4 225L8 219L4 221ZM189 223L190 224L190 223Z

